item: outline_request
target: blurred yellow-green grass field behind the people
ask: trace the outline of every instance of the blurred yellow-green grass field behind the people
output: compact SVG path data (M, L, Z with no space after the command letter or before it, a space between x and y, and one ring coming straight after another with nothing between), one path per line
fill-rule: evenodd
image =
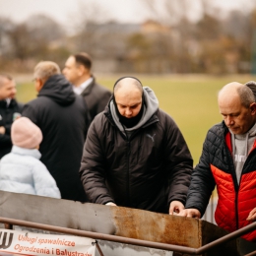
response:
M97 76L97 82L112 89L119 78ZM152 88L160 100L160 108L173 117L183 133L196 164L210 127L222 120L217 104L218 91L227 83L245 83L251 76L138 76L144 86ZM36 96L32 82L18 82L18 100L28 102Z

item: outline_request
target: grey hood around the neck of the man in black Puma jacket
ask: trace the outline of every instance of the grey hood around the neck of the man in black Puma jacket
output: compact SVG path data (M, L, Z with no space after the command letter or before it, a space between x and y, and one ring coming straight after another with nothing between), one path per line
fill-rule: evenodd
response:
M144 98L145 98L144 113L143 113L142 118L141 118L141 120L139 121L138 124L136 124L132 128L126 128L125 129L127 132L132 132L132 131L137 130L140 127L142 127L144 124L146 124L150 120L150 118L159 109L159 99L157 98L157 96L155 95L153 90L150 89L149 87L144 87L143 92L144 92ZM112 118L113 118L116 126L118 127L118 129L121 132L123 132L125 134L124 127L120 123L118 115L116 113L113 100L110 101L109 106L110 106L110 112L111 112Z

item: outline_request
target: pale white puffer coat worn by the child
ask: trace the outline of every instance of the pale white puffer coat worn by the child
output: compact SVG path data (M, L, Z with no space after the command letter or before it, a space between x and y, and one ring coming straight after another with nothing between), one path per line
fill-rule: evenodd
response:
M35 149L13 146L0 160L0 190L60 198L60 191Z

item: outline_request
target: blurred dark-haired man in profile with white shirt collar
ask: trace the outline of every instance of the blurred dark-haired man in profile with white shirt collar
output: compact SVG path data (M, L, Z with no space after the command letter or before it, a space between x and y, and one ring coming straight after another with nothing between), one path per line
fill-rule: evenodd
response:
M80 52L67 59L62 73L73 84L74 92L84 97L93 120L96 114L104 110L111 92L96 83L92 65L90 55Z

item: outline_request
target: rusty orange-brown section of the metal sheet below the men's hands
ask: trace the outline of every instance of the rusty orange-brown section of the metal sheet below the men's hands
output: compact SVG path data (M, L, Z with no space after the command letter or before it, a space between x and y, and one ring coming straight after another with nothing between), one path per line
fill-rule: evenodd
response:
M168 244L200 247L198 220L111 207L116 235Z

